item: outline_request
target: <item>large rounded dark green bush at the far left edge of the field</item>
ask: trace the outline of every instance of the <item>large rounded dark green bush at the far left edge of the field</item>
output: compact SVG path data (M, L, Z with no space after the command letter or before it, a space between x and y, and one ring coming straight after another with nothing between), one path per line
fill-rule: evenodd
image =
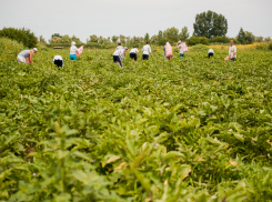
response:
M22 42L24 47L34 48L38 43L38 38L29 29L3 28L0 30L0 37L9 38Z

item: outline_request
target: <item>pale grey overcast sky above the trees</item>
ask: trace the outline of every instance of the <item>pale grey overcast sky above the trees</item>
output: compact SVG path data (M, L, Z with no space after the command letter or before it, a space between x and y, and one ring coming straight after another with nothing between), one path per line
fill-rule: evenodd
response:
M29 28L47 40L52 33L158 34L159 30L187 26L190 36L197 13L212 10L229 23L228 37L242 27L255 36L272 37L272 0L0 0L0 29Z

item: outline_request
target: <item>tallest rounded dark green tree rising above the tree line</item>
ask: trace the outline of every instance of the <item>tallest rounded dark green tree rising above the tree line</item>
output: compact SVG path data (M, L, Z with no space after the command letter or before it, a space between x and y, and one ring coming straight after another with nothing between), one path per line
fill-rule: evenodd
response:
M216 12L208 11L197 14L193 23L193 36L197 37L224 37L228 32L228 20Z

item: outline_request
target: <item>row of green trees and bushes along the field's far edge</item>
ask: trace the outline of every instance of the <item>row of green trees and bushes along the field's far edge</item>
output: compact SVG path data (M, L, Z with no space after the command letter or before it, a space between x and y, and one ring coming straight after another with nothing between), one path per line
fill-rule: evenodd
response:
M42 36L39 37L39 42L47 43L49 47L53 47L63 44L70 46L71 41L74 41L79 46L89 44L90 47L111 48L114 47L117 42L121 42L125 46L139 47L140 44L143 44L147 41L150 41L151 43L158 46L163 46L168 41L174 44L179 40L187 42L188 46L194 46L199 43L229 43L230 40L234 40L235 43L240 44L251 44L253 42L271 41L270 37L256 37L250 31L244 31L242 28L240 29L235 38L228 38L228 20L224 16L209 10L206 12L198 13L195 16L195 22L193 23L194 31L191 37L188 31L188 27L183 27L181 30L173 27L164 31L159 30L158 34L151 37L149 33L145 33L144 37L125 37L123 34L120 34L108 38L92 34L83 43L75 36L69 37L68 34L60 36L59 33L54 33L51 36L48 43ZM0 30L0 37L14 39L19 42L22 42L26 47L36 47L38 42L38 38L34 37L33 32L24 28L3 28L2 30Z

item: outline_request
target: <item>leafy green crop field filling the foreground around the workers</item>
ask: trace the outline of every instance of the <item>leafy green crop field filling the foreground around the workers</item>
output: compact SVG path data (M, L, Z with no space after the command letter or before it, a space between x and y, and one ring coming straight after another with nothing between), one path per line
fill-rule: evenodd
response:
M121 69L113 49L43 48L26 65L3 44L1 202L272 201L271 51L165 61L151 46Z

